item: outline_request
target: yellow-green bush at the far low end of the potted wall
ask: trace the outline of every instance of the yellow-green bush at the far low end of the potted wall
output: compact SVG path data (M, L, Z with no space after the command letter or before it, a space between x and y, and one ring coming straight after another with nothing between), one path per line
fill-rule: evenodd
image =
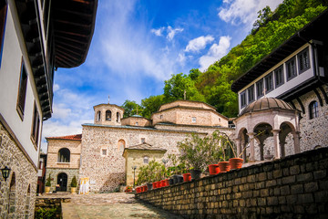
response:
M156 182L165 177L165 166L152 160L148 165L143 165L139 168L137 185L143 183Z

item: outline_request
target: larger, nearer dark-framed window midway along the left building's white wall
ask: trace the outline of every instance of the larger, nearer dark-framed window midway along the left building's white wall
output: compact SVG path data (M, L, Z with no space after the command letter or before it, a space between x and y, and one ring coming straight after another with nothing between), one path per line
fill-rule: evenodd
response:
M26 88L27 88L27 73L24 61L22 60L20 79L19 79L19 88L18 88L18 98L17 98L17 112L20 118L24 118L24 109L26 103Z

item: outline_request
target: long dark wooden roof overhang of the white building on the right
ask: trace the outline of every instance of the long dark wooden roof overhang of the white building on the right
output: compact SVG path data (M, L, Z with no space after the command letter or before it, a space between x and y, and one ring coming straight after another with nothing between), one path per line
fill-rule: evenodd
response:
M324 10L322 14L313 19L312 22L303 26L301 30L295 33L277 47L268 56L263 57L261 61L255 64L250 70L237 78L231 85L231 90L238 92L247 86L251 81L260 77L270 68L277 65L285 57L289 57L294 51L302 47L305 43L315 39L322 42L328 40L328 34L324 31L324 26L328 23L328 10Z

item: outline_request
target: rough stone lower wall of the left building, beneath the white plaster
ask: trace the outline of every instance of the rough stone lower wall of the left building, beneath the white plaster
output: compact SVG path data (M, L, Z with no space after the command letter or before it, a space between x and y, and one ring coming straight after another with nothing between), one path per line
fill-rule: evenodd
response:
M37 172L26 155L0 123L0 168L11 169L8 179L0 177L0 218L34 218ZM15 172L15 186L9 186ZM9 197L10 196L10 197Z

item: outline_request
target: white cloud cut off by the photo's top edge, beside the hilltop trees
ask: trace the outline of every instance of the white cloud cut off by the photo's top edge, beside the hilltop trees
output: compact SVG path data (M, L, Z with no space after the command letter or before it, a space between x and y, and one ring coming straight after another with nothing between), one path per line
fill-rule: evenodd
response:
M257 12L269 5L272 11L282 3L282 0L225 0L219 8L220 18L232 25L252 26L257 18Z

